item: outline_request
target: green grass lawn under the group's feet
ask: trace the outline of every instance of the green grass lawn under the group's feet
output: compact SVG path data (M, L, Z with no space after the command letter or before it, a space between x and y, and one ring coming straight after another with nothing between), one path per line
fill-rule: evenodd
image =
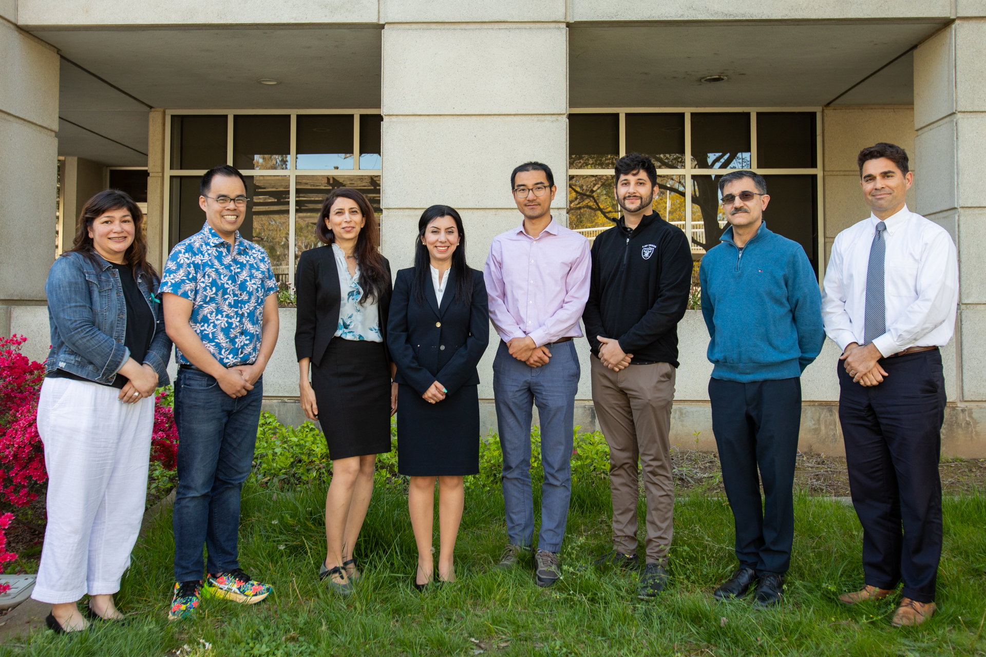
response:
M537 503L535 497L535 505ZM364 578L342 599L317 579L324 557L324 489L244 491L241 561L274 585L253 607L205 600L194 620L169 624L171 515L133 554L117 605L125 627L84 635L38 631L0 646L24 655L977 655L986 618L986 496L945 503L939 614L917 628L890 626L894 603L847 608L839 593L863 584L862 531L851 507L796 498L794 558L782 606L715 603L712 591L736 567L733 517L720 497L689 492L674 506L669 588L654 602L635 596L632 574L599 573L590 561L608 548L609 493L572 495L563 578L539 589L528 568L491 569L506 542L497 490L468 491L458 540L458 582L420 594L406 498L396 486L374 493L357 546ZM643 509L643 503L641 504ZM436 526L437 526L436 522ZM643 523L641 523L643 536ZM436 537L436 546L438 545ZM16 640L16 639L15 639ZM211 647L206 647L206 644ZM187 646L183 648L182 646Z

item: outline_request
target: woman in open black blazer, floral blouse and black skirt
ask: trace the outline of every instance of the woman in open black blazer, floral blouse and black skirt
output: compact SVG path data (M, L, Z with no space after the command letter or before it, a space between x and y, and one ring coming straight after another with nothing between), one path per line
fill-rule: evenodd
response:
M319 421L332 460L327 556L318 576L348 594L360 576L353 547L373 494L374 465L377 454L390 451L390 416L397 407L387 351L390 265L377 250L373 207L355 189L332 190L316 233L325 245L298 260L295 352L302 409Z

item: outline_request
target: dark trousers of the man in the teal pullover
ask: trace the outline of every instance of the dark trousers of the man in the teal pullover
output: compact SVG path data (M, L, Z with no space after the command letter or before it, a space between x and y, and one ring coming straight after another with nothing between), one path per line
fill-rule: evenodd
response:
M713 378L709 399L723 484L736 522L737 558L757 576L784 574L791 566L795 538L801 378L750 383Z

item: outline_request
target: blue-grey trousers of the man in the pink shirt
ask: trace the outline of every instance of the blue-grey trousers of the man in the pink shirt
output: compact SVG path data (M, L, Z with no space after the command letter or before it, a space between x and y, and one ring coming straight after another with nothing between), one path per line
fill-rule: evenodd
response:
M493 361L493 392L503 451L503 501L512 545L529 546L534 536L530 488L530 421L533 405L541 424L541 531L537 547L561 552L572 496L572 440L579 357L575 342L548 347L551 360L530 367L510 355L501 341Z

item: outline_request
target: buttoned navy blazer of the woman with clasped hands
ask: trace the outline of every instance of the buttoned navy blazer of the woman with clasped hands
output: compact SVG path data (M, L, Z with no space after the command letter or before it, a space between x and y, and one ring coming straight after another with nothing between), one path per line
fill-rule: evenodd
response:
M397 383L411 386L419 395L435 381L452 394L463 385L478 385L476 365L489 344L489 309L482 272L472 276L472 302L456 298L455 273L439 307L438 296L429 276L423 304L414 298L414 268L401 269L393 286L387 345L397 365Z

